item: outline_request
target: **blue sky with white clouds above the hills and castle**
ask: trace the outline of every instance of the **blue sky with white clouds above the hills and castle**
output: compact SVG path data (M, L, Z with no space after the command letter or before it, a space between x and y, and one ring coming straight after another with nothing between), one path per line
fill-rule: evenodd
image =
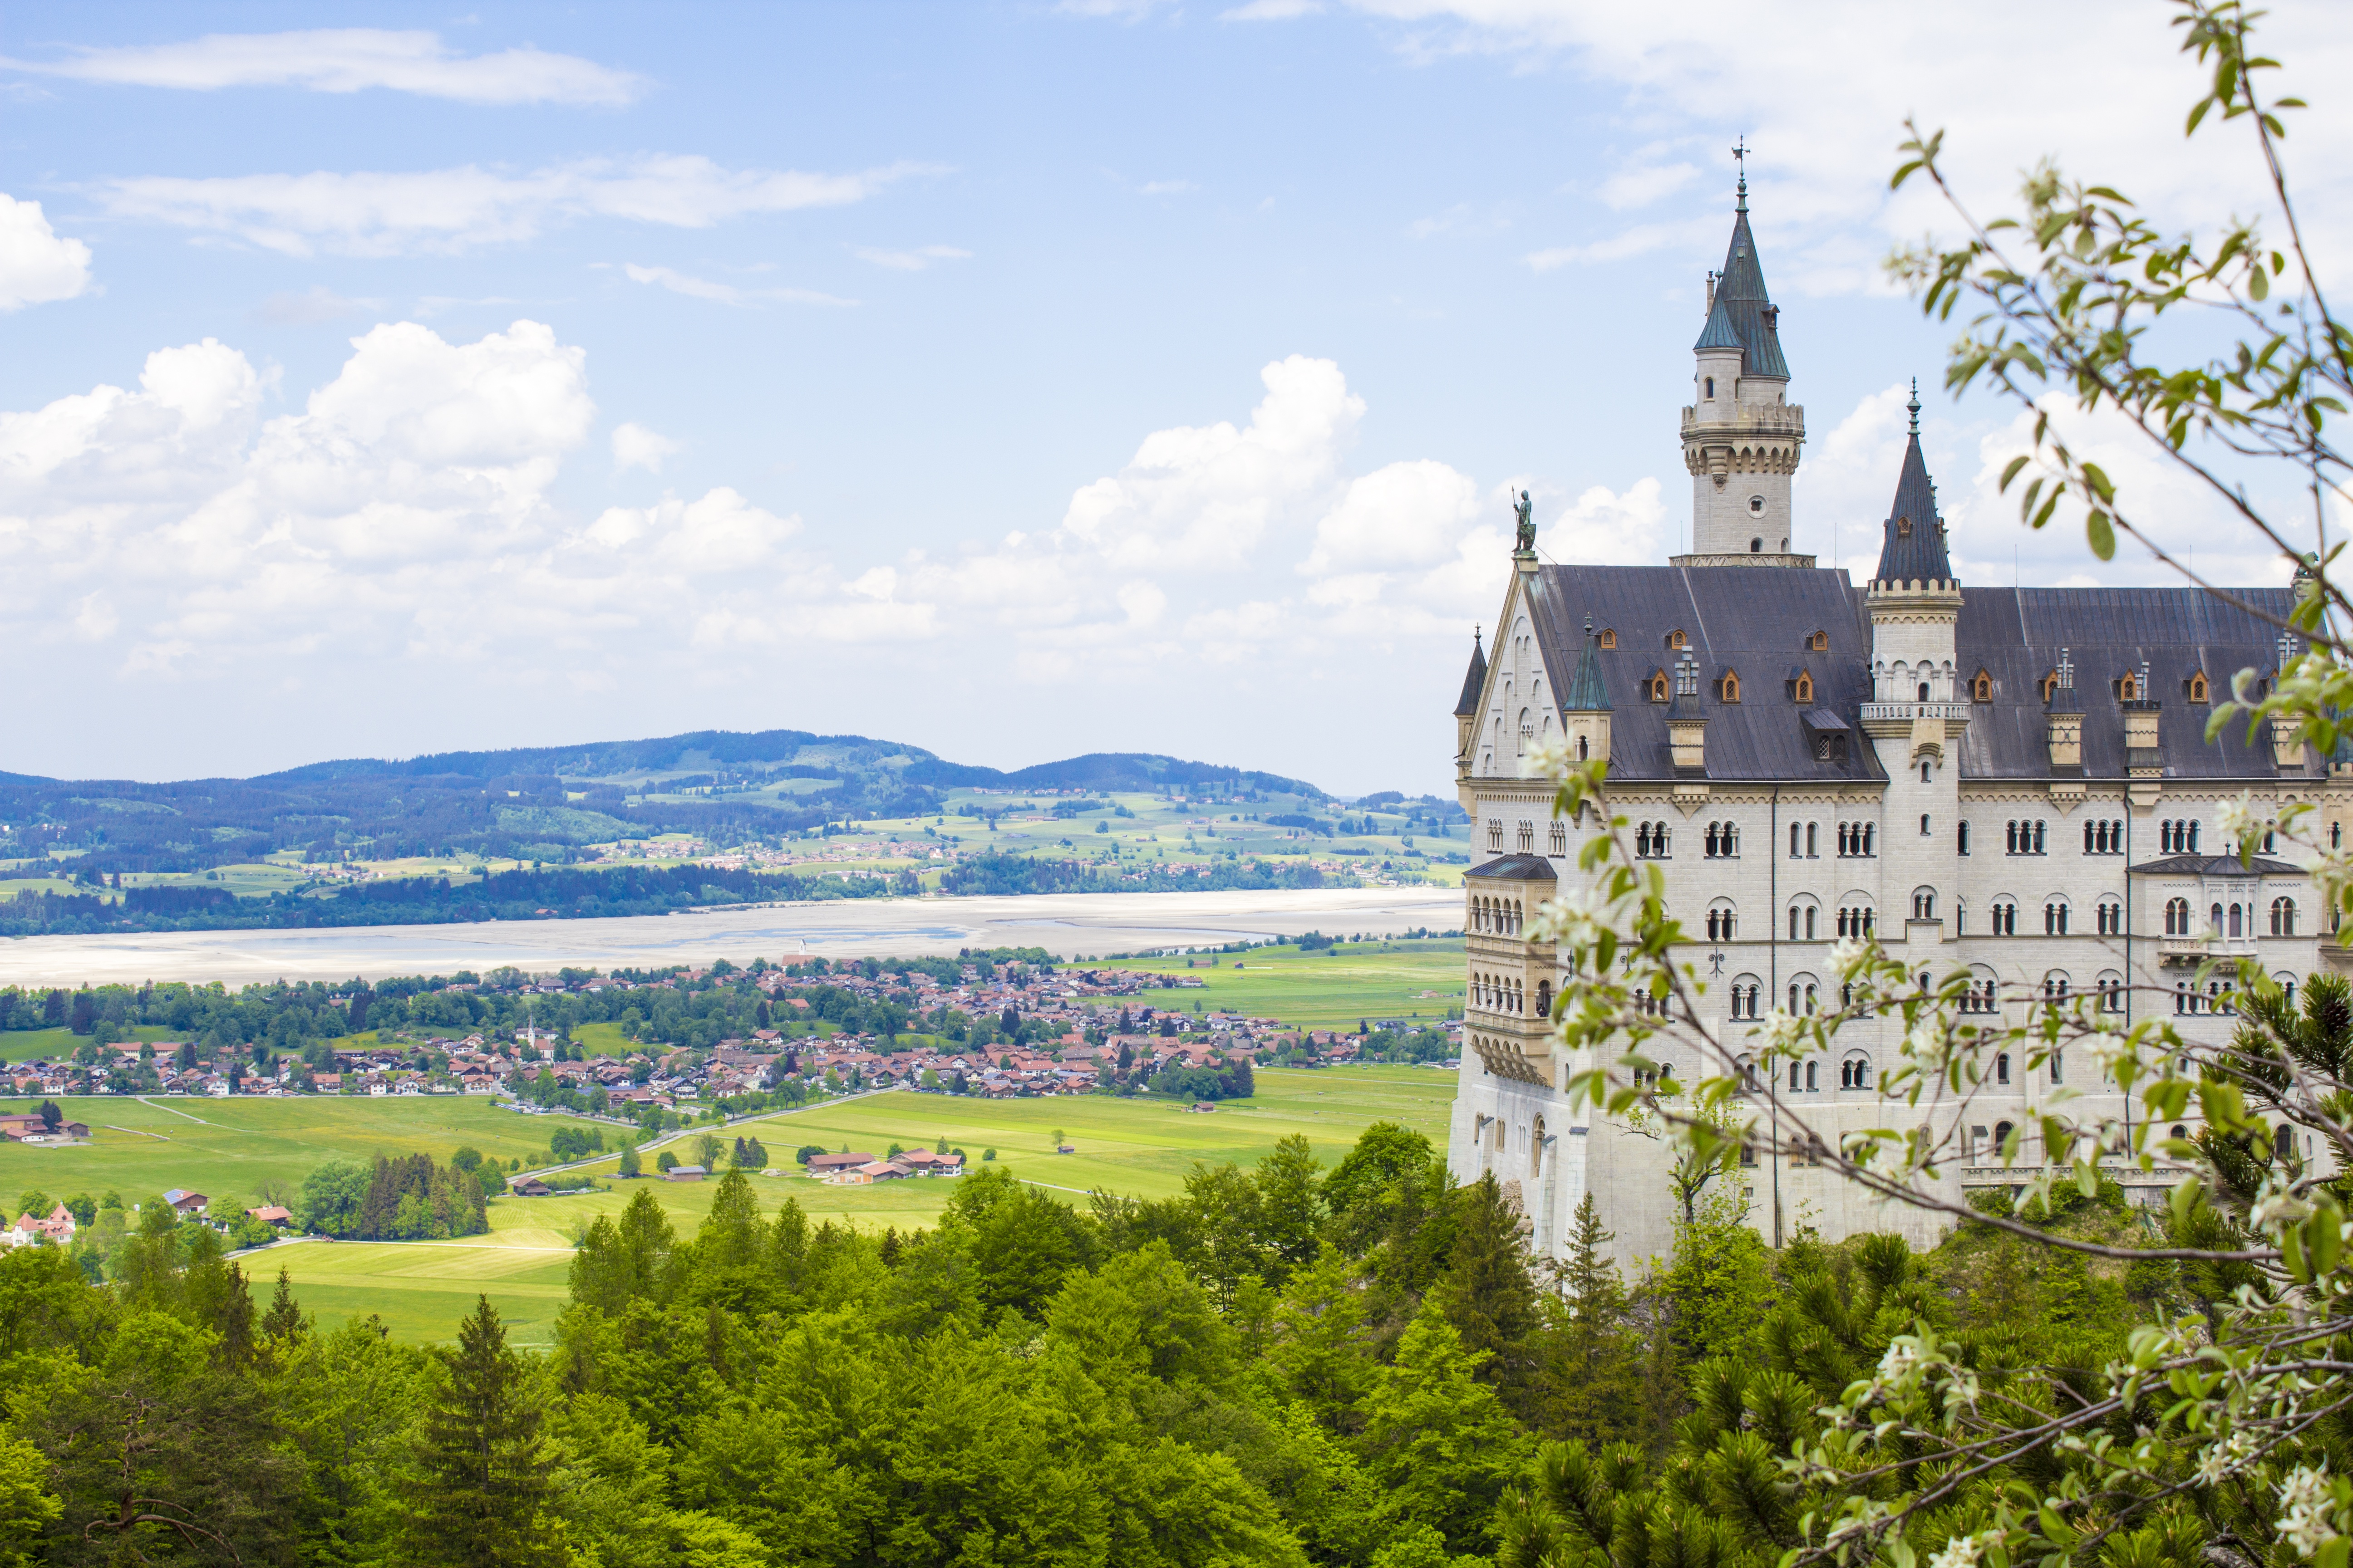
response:
M1445 792L1529 489L1682 545L1734 139L1807 409L1793 548L1868 569L1904 400L1965 583L2024 411L1889 284L2054 155L2160 228L2167 7L1551 0L14 5L0 14L0 769L245 776L687 729L1024 766L1153 750ZM2348 256L2353 12L2266 40ZM2224 581L2214 503L2078 423Z

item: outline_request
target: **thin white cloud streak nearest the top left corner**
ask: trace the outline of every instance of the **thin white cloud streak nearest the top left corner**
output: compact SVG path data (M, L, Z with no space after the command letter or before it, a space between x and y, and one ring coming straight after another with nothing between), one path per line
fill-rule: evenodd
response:
M501 49L456 54L438 33L318 28L306 33L209 33L188 42L78 49L56 61L0 61L9 71L127 87L308 87L365 92L388 87L461 103L621 106L645 92L628 71L574 54Z

